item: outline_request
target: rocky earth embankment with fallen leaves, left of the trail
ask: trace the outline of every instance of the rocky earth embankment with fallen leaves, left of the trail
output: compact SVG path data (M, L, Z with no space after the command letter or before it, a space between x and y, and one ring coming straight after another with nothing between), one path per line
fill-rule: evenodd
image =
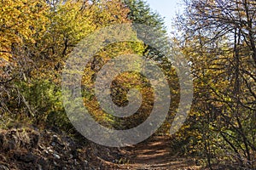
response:
M0 170L115 169L121 157L117 149L28 127L1 130L0 151Z

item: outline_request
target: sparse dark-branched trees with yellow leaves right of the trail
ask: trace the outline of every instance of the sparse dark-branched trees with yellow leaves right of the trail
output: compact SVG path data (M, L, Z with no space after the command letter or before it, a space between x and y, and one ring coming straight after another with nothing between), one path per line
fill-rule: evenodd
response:
M255 167L255 7L247 0L191 0L177 22L210 167L215 158Z

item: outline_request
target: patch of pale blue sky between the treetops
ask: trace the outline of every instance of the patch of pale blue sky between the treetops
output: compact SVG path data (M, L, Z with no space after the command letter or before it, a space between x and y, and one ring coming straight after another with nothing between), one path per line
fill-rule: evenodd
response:
M177 13L182 12L183 0L146 0L153 11L157 11L162 17L165 17L168 32L172 31L172 20Z

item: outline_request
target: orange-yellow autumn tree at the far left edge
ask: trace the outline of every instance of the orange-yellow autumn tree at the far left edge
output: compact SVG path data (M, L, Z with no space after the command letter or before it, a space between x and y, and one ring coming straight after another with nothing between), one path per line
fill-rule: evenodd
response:
M0 105L2 115L9 112L9 105L18 101L20 91L14 82L26 81L32 60L25 52L26 42L35 43L34 37L45 31L48 6L44 1L1 1L0 2Z

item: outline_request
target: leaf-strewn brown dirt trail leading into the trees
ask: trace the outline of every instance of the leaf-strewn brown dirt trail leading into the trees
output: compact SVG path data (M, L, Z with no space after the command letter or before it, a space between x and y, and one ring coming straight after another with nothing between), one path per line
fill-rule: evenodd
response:
M129 161L119 165L119 169L200 169L190 158L173 156L170 138L166 136L153 137L123 151Z

